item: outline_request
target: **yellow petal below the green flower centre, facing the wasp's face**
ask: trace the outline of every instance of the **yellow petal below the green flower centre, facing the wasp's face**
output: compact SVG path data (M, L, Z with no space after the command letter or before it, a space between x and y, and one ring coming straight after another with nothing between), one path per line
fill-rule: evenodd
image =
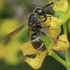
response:
M54 17L54 16L52 16L52 15L50 15L51 16L51 21L49 21L49 18L44 22L44 24L46 25L46 26L51 26L53 29L59 29L60 28L60 26L62 25L62 24L64 24L66 21L67 21L67 17L68 17L68 15L61 15L61 16L63 16L63 18L57 18L57 17ZM49 22L48 22L49 21Z

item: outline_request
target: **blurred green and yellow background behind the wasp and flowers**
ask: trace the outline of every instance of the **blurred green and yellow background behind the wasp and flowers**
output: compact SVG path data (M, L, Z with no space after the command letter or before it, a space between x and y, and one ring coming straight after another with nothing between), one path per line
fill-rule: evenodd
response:
M21 52L21 45L28 41L27 29L3 45L1 42L4 37L28 22L28 17L34 10L34 6L43 7L49 0L0 0L0 70L33 70L24 60ZM51 0L56 2L57 0ZM53 15L52 7L45 9L46 13ZM70 27L69 27L70 28ZM69 35L69 34L68 34ZM66 70L54 58L45 58L39 70Z

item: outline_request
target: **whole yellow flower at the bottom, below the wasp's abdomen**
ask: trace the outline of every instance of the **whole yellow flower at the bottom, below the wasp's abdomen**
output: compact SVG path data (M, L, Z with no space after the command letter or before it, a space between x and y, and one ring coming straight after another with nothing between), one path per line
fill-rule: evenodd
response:
M39 69L41 67L42 62L47 54L47 51L35 50L30 42L24 43L21 46L21 50L24 56L31 54L36 55L35 58L27 57L25 60L33 69Z

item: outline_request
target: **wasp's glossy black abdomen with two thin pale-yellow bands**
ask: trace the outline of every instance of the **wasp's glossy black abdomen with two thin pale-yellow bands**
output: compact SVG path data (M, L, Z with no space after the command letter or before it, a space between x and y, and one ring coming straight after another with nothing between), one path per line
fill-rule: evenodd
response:
M45 51L47 49L44 42L39 38L39 35L37 33L33 33L30 36L30 41L36 50Z

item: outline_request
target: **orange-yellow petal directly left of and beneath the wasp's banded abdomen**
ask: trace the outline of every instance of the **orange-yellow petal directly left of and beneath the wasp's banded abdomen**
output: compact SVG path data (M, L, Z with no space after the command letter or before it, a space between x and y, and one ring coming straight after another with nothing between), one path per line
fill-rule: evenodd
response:
M23 55L31 55L31 54L39 54L39 53L41 53L41 51L35 50L33 48L33 46L31 45L31 42L24 43L21 46L21 50L23 52Z

